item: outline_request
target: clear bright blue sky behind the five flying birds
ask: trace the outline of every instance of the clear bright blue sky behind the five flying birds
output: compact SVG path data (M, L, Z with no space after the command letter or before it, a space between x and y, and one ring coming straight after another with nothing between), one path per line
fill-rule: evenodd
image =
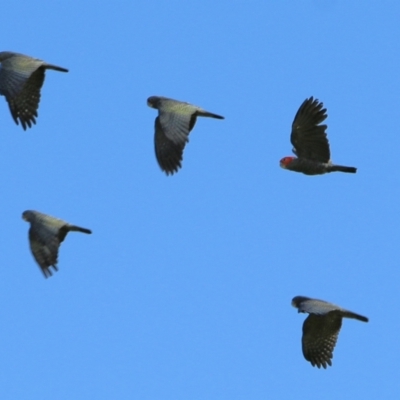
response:
M24 132L0 100L2 399L397 399L400 6L346 1L20 0L2 49L49 71ZM159 169L151 95L199 119ZM328 110L333 161L279 168L293 117ZM44 279L21 219L93 230ZM333 366L301 353L305 295L345 320Z

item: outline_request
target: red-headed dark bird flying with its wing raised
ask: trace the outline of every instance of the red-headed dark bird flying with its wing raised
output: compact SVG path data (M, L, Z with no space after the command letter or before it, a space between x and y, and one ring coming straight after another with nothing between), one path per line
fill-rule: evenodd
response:
M326 117L323 103L310 97L304 100L294 117L290 141L296 157L284 157L280 166L306 175L327 172L357 172L357 168L332 164L326 125L320 125Z

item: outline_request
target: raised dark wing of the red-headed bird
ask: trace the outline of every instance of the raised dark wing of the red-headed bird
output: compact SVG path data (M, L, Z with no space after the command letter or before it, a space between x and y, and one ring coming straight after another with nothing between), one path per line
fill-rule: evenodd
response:
M294 117L290 141L299 158L327 163L330 160L326 125L319 125L327 118L323 103L310 97L304 100Z

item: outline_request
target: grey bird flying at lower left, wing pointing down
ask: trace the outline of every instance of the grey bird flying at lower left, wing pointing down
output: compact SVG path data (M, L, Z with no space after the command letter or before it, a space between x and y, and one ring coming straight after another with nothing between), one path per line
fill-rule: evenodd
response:
M71 225L66 221L42 214L38 211L24 211L22 218L31 224L29 244L33 257L39 264L45 278L52 275L50 267L58 271L58 249L70 231L90 234L91 230Z

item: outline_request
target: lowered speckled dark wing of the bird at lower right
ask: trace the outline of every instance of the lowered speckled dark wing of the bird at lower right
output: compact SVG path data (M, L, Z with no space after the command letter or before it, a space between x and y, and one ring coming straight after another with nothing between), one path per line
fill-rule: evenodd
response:
M326 368L332 365L333 350L342 326L339 312L326 315L310 314L303 324L302 348L304 358L312 366Z

